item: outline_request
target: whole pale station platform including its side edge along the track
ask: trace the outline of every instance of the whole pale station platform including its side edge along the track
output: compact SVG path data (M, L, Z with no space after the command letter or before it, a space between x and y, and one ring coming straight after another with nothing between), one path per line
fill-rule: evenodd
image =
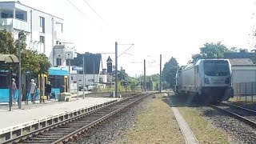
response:
M50 126L54 123L97 110L102 106L117 102L120 98L71 98L70 102L45 102L13 106L9 111L0 106L0 143L10 138Z

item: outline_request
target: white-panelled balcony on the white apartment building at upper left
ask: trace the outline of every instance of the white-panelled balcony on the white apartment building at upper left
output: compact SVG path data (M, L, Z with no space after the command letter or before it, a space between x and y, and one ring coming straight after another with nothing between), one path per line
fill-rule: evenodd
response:
M0 27L12 27L16 30L30 32L30 24L28 22L15 18L0 18Z

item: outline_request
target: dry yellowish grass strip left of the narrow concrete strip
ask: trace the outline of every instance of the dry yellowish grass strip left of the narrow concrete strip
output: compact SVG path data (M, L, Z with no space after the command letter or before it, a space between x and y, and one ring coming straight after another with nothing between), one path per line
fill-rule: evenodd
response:
M185 143L170 106L161 94L146 103L122 143Z

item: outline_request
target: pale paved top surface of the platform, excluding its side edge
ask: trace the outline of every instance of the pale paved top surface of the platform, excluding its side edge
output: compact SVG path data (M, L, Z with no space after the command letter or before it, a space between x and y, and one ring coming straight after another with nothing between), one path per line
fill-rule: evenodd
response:
M29 105L23 105L23 110L18 109L18 106L13 106L12 111L8 111L9 107L6 109L0 106L0 130L10 126L21 125L24 122L30 122L72 110L95 106L103 102L110 102L115 99L119 98L71 98L71 102L53 101L34 105L30 103Z

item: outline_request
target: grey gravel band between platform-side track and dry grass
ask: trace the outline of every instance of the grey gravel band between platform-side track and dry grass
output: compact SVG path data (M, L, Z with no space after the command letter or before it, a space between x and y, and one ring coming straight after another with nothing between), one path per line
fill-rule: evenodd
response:
M151 97L145 98L142 102L122 110L121 113L70 143L120 143L122 134L126 129L134 126L137 115L144 110L144 105L151 100Z

